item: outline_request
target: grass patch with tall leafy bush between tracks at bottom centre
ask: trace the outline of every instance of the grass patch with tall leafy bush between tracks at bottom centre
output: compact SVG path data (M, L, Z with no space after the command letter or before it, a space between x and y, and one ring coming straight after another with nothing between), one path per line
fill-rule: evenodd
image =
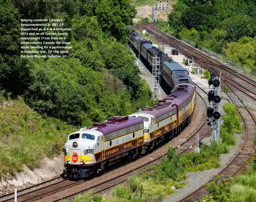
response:
M154 165L151 172L144 171L140 176L128 178L126 185L118 186L106 196L92 196L87 193L77 196L73 202L160 202L166 196L184 187L182 178L186 177L180 165L180 156L175 155L175 147L168 147L167 157ZM62 201L65 202L65 201Z

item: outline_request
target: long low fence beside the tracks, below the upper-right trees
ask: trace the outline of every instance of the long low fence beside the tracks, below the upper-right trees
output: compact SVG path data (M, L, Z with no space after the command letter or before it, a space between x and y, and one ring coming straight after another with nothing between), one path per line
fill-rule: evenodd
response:
M190 40L187 40L185 38L181 38L183 41L185 41L186 43L190 44L191 46L196 46L196 44L193 42L193 41L190 41ZM207 52L209 53L210 55L216 57L216 58L219 58L220 60L222 61L225 61L227 62L228 64L231 64L233 67L237 68L238 70L243 70L245 73L247 73L248 75L251 75L251 76L254 76L256 77L256 71L255 70L252 70L248 67L244 67L244 65L242 64L238 64L237 62L235 61L232 61L231 59L228 59L226 57L224 57L223 55L219 54L219 53L216 53L216 52L213 52L209 49L206 49L204 48L203 46L200 46L200 45L197 45L198 48L204 52Z

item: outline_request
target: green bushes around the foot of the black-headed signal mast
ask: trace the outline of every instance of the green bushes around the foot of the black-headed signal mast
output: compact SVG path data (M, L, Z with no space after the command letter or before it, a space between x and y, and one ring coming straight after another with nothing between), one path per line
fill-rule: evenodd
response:
M234 133L241 132L240 116L234 104L225 103L222 108L225 113L222 114L221 142L218 144L216 141L211 141L209 145L202 144L199 154L196 154L195 151L186 153L181 159L181 165L185 171L218 168L220 155L228 153L229 146L236 144Z

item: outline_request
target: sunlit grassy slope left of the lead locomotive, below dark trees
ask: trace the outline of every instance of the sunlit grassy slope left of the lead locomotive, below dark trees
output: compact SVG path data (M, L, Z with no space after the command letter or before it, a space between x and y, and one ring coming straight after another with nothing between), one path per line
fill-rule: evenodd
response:
M44 157L59 156L67 135L75 130L58 119L41 117L22 98L6 100L0 95L0 178L23 166L35 168Z

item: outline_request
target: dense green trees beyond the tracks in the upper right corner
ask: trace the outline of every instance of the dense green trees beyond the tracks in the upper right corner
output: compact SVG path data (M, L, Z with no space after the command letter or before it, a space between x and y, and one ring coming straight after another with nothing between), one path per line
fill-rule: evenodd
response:
M177 0L173 8L169 14L170 28L162 28L163 31L172 30L176 37L225 53L228 58L255 69L256 2Z

